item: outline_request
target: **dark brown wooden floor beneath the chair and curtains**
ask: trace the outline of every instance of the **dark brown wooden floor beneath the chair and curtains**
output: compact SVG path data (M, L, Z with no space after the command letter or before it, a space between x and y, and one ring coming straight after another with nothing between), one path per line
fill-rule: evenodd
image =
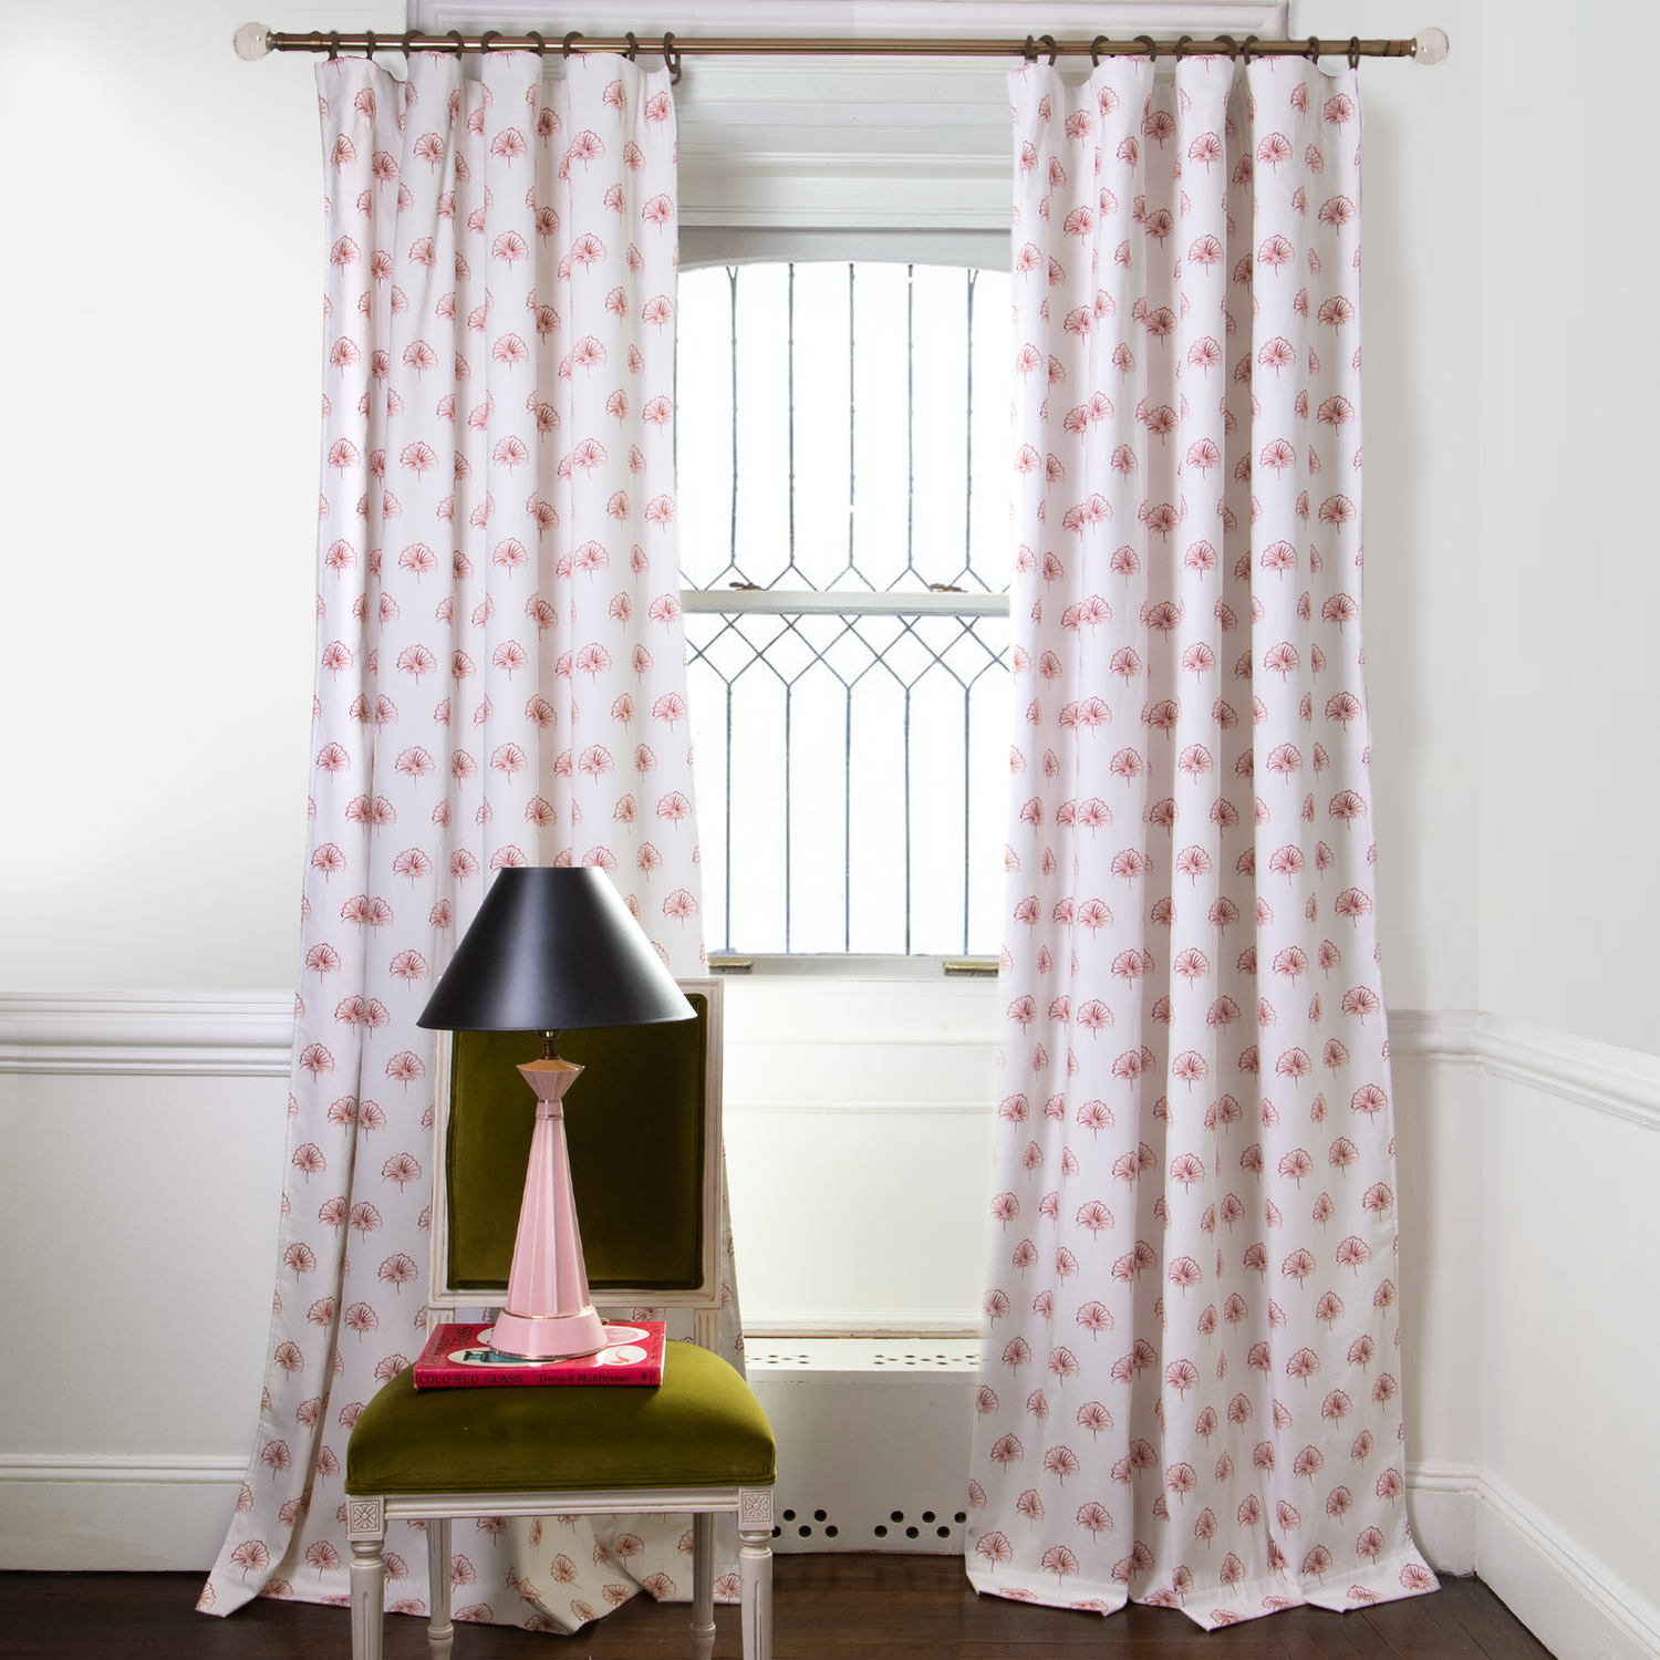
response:
M958 1557L787 1555L774 1575L775 1660L1549 1660L1474 1579L1363 1614L1293 1609L1202 1632L1180 1614L1091 1614L976 1597ZM0 1655L123 1660L327 1660L350 1653L342 1609L252 1602L196 1614L199 1574L0 1574ZM458 1625L455 1660L659 1660L691 1655L691 1614L636 1597L576 1637ZM717 1609L717 1660L735 1660L737 1609ZM387 1660L427 1660L427 1622L387 1620Z

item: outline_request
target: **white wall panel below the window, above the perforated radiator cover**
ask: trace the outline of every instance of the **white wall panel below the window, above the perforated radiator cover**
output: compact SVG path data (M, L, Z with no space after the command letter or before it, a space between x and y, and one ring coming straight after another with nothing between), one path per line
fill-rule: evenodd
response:
M749 1330L978 1328L1001 1011L994 979L727 981Z

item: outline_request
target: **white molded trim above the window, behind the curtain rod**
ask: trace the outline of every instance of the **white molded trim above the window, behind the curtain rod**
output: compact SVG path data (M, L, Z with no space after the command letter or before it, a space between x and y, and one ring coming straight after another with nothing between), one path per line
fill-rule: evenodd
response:
M1024 40L1282 35L1273 0L639 0L554 12L535 0L410 0L410 27L540 28L641 43L677 35L852 35ZM1062 60L1087 73L1082 60ZM775 232L838 234L817 257L981 264L1008 257L1011 63L961 58L687 58L676 93L682 257L767 257ZM765 232L750 236L719 232ZM908 236L920 232L918 237ZM968 239L964 239L964 232ZM828 244L825 244L828 246ZM774 256L775 257L775 256ZM795 252L793 257L815 257Z

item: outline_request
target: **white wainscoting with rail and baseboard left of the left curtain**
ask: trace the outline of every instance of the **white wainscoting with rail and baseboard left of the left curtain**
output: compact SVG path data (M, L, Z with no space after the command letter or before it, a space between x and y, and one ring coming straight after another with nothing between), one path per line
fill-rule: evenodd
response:
M292 994L0 996L0 1567L217 1552L267 1351L292 1024Z

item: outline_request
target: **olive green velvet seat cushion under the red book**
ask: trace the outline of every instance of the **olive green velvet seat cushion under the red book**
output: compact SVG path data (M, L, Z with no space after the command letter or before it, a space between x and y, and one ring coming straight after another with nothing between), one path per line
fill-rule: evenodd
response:
M420 1389L397 1374L345 1449L345 1491L765 1486L772 1426L719 1355L669 1343L662 1383Z

